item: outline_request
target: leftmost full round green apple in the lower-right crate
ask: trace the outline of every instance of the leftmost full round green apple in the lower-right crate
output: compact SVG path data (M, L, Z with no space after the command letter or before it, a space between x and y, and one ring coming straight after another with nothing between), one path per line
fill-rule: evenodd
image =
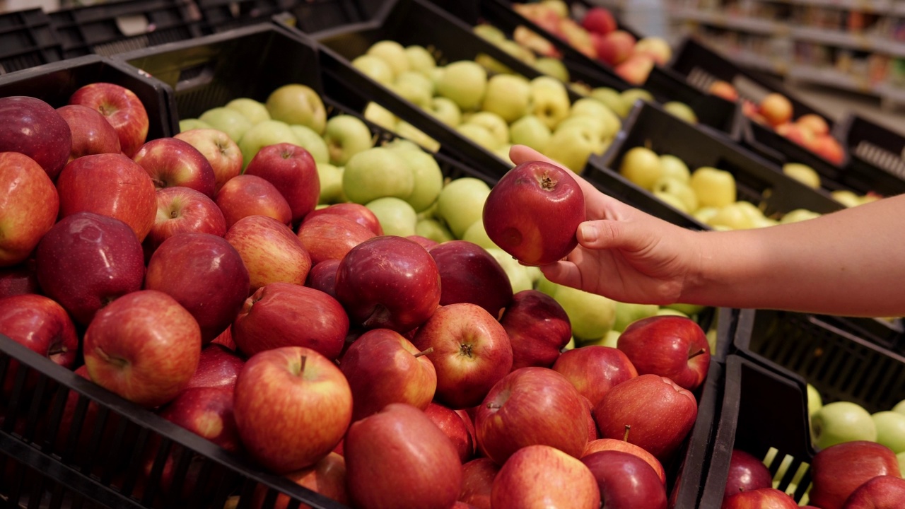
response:
M877 440L870 412L851 401L834 401L817 410L811 417L811 430L818 449L854 440Z

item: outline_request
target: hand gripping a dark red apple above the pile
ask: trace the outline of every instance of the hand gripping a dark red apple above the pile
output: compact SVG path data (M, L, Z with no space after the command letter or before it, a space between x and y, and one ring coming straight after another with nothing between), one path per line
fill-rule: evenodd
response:
M523 145L513 146L510 158L516 165L530 160L557 164ZM586 222L578 226L578 246L565 260L541 266L544 275L553 283L619 302L679 302L700 264L696 234L627 206L573 176L585 194Z

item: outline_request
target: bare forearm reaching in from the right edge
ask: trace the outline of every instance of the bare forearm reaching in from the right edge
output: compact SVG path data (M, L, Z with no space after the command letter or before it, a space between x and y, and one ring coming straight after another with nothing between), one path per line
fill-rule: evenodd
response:
M905 196L801 223L694 235L699 251L683 302L905 315Z

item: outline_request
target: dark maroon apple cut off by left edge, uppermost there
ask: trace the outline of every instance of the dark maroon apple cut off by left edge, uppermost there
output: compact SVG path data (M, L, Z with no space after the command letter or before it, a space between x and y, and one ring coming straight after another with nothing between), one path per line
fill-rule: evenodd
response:
M50 104L26 96L0 98L0 152L18 152L55 180L72 147L69 124Z

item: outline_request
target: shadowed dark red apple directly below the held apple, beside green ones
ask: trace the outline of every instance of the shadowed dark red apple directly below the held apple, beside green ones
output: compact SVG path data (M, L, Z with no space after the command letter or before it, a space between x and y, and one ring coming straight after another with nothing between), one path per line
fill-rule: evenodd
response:
M549 368L572 339L566 310L546 293L522 290L500 319L512 344L512 369L527 366Z

